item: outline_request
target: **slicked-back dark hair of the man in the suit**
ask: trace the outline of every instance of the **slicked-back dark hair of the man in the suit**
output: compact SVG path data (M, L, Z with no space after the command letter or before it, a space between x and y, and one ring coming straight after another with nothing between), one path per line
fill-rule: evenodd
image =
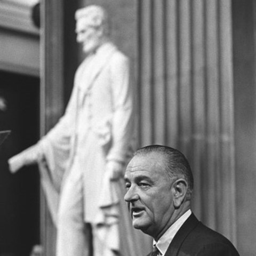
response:
M170 178L180 177L180 175L185 178L188 183L188 194L191 195L194 178L187 158L177 149L160 145L150 145L140 148L135 151L134 156L146 156L150 153L159 153L164 157L164 169Z

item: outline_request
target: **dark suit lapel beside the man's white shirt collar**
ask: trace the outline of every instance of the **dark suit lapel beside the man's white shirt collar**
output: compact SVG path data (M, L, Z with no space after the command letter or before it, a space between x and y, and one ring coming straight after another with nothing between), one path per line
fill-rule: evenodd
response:
M195 215L192 213L189 218L185 221L185 223L178 230L177 234L173 237L171 244L169 245L165 255L178 255L180 246L186 239L186 237L190 234L190 232L199 224L200 222L197 220Z

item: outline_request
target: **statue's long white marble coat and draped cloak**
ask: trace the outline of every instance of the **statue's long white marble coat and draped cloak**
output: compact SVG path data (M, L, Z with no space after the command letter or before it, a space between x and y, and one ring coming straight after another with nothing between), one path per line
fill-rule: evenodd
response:
M47 163L39 161L39 169L54 223L61 188L73 166L79 166L84 221L121 255L140 255L141 245L147 244L131 227L123 181L112 182L105 172L107 161L122 162L125 168L132 154L133 98L129 60L106 43L81 63L65 114L39 142ZM122 234L126 242L120 241Z

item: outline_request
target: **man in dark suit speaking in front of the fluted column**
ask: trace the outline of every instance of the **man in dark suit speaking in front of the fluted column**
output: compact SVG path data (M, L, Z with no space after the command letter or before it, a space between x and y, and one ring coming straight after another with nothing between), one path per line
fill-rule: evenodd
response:
M135 152L125 172L133 227L154 238L157 256L238 256L221 234L190 210L193 175L180 151L147 146Z

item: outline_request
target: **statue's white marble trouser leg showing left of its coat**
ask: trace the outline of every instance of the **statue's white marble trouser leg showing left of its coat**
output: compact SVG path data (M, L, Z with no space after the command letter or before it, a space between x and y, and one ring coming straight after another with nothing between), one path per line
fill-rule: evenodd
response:
M83 216L83 179L81 170L72 170L62 187L57 227L57 256L91 256L90 229Z

